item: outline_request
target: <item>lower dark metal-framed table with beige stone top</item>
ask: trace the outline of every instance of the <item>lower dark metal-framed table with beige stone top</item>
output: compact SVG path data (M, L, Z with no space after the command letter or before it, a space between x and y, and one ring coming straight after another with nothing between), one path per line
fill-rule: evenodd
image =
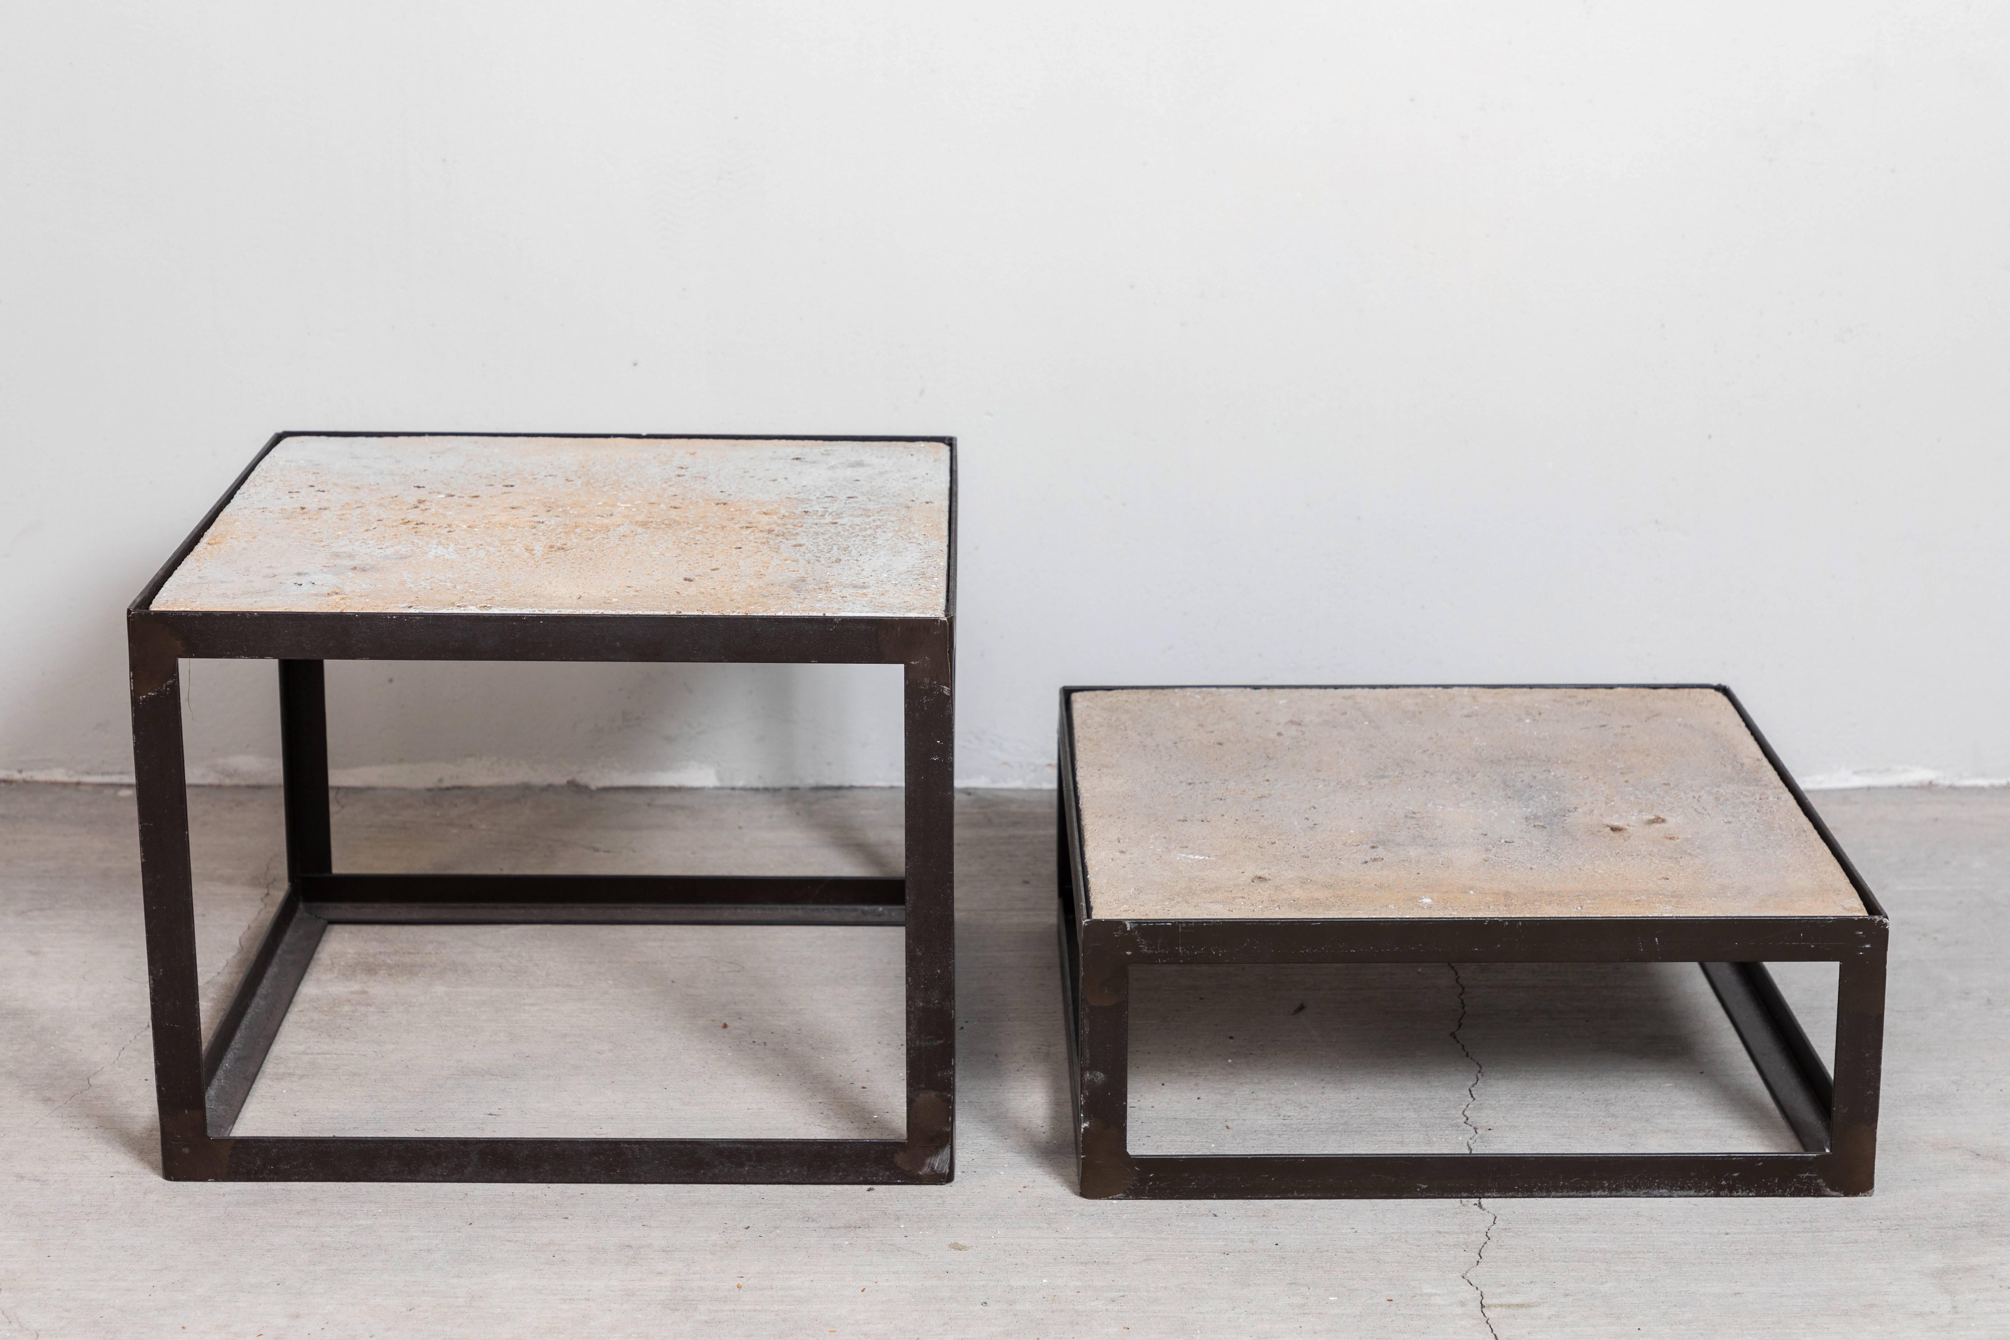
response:
M1863 1195L1889 924L1723 685L1061 691L1089 1197ZM1767 962L1837 964L1835 1075ZM1801 1149L1136 1155L1136 964L1696 962Z

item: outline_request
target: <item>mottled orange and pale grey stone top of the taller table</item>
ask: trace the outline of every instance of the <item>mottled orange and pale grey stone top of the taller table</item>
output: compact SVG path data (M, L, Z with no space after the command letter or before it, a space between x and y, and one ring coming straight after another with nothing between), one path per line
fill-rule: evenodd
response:
M939 619L947 593L941 442L285 438L153 609Z

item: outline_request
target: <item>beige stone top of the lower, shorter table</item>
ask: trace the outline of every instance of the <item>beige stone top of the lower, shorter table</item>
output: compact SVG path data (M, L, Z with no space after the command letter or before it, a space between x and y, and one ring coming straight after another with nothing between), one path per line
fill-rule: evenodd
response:
M1711 689L1069 701L1101 920L1867 914Z

